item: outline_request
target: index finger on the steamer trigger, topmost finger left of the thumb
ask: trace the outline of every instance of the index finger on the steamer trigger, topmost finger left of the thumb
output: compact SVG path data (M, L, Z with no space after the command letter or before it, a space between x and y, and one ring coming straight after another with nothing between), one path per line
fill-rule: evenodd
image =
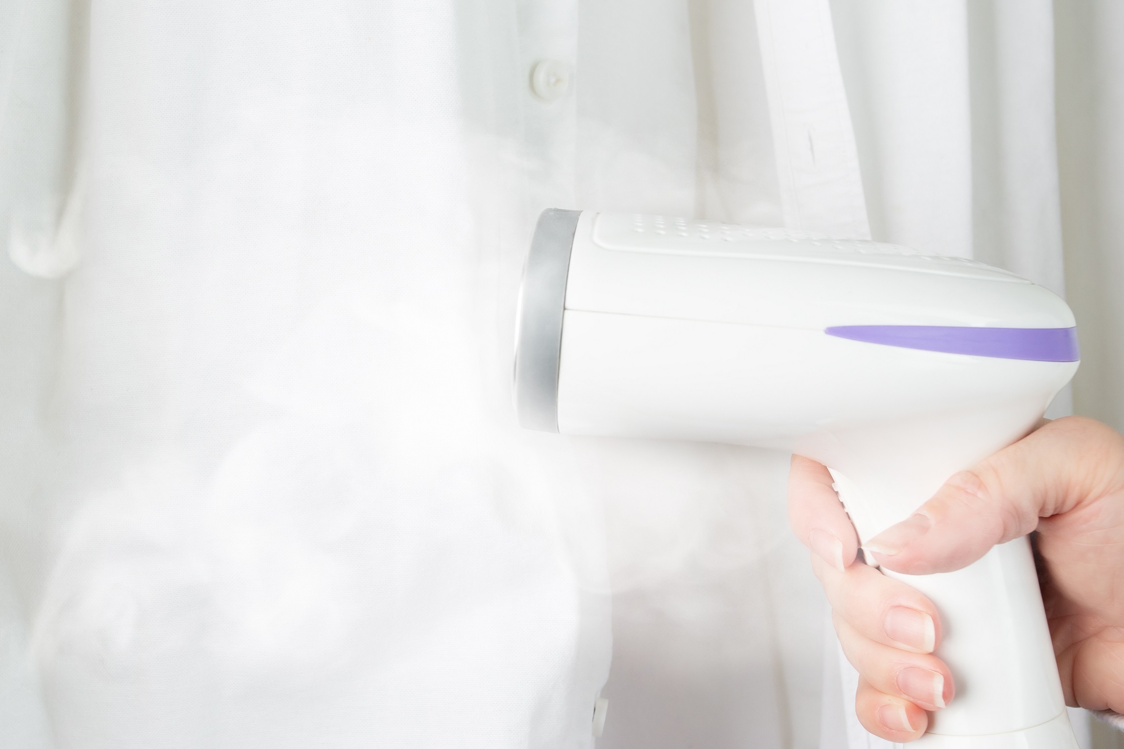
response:
M788 521L797 538L835 569L846 568L859 553L859 536L832 488L832 475L801 455L792 455L788 475Z

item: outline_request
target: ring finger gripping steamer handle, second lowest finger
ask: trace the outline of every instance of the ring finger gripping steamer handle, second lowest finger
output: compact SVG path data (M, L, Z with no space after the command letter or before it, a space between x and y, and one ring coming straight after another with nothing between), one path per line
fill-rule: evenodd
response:
M832 619L843 655L872 687L928 711L952 700L952 674L940 658L874 642L837 615Z

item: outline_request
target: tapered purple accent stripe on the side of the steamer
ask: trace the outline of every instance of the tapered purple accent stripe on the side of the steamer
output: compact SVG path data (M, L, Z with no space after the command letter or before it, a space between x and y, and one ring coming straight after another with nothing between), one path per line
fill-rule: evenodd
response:
M842 325L827 335L899 349L995 359L1078 361L1076 327L951 327L942 325Z

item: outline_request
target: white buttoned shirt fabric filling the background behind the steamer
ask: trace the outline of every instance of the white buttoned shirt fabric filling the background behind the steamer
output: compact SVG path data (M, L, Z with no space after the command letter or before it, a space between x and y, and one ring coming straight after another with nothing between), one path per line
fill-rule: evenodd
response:
M602 685L602 747L873 746L785 457L514 428L519 265L552 205L975 255L1121 426L1124 18L1050 11L0 1L0 746L589 747Z

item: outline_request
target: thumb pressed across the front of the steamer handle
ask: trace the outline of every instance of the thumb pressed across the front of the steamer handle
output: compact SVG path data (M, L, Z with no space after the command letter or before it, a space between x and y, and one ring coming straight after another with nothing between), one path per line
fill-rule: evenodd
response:
M1124 439L1089 418L1059 418L950 478L864 549L897 572L949 572L1122 485Z

